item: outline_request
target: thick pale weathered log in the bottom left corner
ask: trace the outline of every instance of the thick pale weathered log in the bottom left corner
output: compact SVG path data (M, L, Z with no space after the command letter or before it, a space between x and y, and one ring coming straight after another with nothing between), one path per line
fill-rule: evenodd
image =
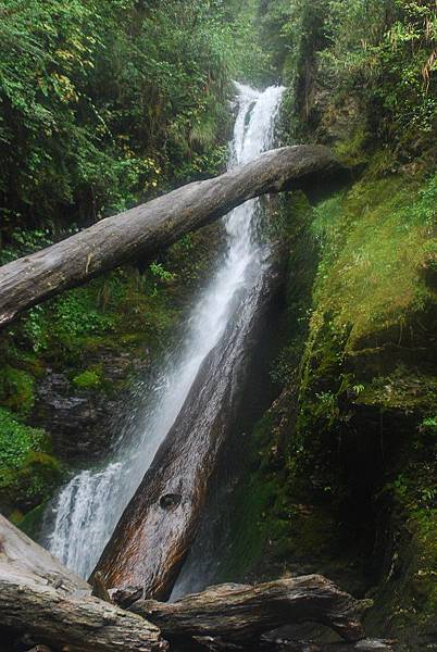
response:
M72 652L167 650L158 627L90 591L0 515L0 640L4 634L28 635L35 643Z

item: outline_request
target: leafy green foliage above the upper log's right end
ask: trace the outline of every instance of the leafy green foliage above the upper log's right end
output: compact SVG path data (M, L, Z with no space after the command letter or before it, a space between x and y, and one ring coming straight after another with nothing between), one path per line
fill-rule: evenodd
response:
M305 137L311 137L315 123L325 137L334 137L352 164L365 162L370 143L386 142L398 160L433 148L437 120L434 0L263 4L272 57L290 86L291 105L286 102L286 112L291 134L301 133L298 121L303 118ZM352 145L348 131L354 125Z

